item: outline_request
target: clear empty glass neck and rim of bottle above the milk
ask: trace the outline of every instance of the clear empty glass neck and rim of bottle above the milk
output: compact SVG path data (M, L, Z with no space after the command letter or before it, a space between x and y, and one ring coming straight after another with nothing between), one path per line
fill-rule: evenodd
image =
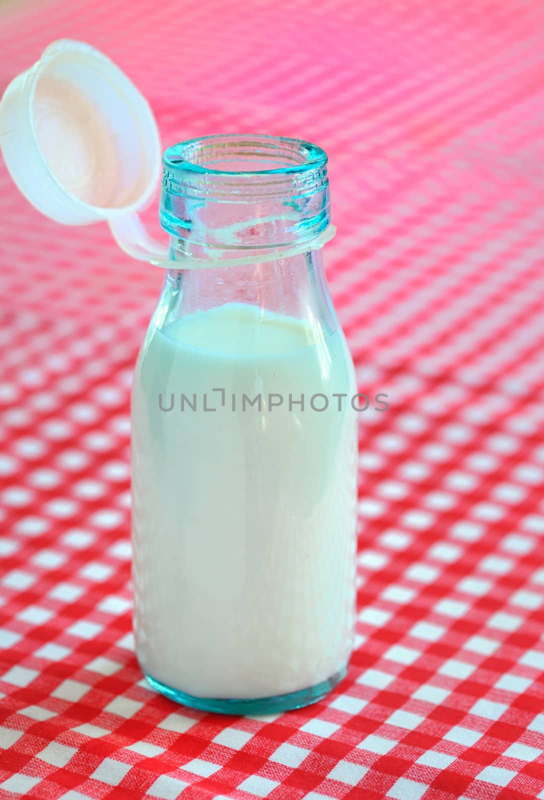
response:
M310 142L226 135L180 142L163 162L170 258L156 320L226 303L337 327L320 248L330 227L326 154Z

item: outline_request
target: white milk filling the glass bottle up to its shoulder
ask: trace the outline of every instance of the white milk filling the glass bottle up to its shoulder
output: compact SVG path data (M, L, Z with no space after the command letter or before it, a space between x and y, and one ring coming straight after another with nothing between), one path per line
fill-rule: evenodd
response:
M225 390L224 407L214 388ZM243 699L302 690L346 665L355 391L340 330L323 339L317 325L242 303L152 326L132 410L135 627L146 674L198 697ZM198 410L180 410L182 393L190 402L197 394ZM202 410L204 393L218 410ZM244 393L262 393L260 413L239 410ZM283 405L269 410L269 393ZM305 410L290 411L289 394L302 393ZM316 393L330 397L321 413L309 407ZM342 412L333 393L349 396ZM173 410L160 410L159 394L165 409L174 394Z

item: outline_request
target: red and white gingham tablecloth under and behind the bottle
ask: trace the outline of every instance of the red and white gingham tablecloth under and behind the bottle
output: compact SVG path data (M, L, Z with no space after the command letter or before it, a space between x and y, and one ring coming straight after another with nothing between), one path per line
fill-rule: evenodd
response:
M361 390L390 401L361 414L346 680L267 718L154 694L130 633L128 411L162 275L106 226L40 218L2 166L0 796L544 798L542 3L0 8L2 88L82 38L165 146L326 148L331 292Z

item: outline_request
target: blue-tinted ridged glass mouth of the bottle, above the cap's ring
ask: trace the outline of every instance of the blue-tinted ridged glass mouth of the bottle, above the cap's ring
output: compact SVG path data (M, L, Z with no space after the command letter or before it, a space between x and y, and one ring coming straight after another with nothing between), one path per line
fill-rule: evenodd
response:
M186 251L310 241L330 222L326 163L321 147L300 139L227 134L180 142L162 157L162 227Z

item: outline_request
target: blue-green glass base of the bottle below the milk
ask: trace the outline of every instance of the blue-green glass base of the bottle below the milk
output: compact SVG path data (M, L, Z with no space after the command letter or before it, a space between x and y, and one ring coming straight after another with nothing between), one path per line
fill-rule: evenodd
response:
M146 680L161 694L166 695L170 700L181 703L182 706L189 706L201 711L210 711L215 714L235 714L236 716L243 716L244 714L278 714L282 711L290 711L295 708L302 708L303 706L310 706L311 703L318 702L326 697L334 686L337 686L343 678L346 677L347 666L342 667L342 670L327 678L326 681L316 683L315 686L310 686L308 689L301 689L298 692L290 692L290 694L277 694L270 698L256 698L247 700L231 700L219 698L197 698L192 694L186 694L178 689L172 689L171 686L166 686L166 683L152 678L151 675L146 674Z

